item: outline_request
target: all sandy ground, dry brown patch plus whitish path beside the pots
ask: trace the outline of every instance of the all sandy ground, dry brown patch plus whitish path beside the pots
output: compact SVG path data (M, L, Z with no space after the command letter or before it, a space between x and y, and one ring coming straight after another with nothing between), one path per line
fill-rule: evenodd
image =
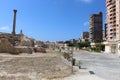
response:
M71 74L71 67L63 62L51 53L0 54L0 80L105 80L78 67Z

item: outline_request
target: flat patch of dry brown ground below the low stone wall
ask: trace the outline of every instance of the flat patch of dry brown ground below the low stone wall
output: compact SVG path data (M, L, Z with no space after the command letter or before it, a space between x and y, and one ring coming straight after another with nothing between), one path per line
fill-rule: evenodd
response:
M0 80L41 80L71 74L71 67L60 56L0 58Z

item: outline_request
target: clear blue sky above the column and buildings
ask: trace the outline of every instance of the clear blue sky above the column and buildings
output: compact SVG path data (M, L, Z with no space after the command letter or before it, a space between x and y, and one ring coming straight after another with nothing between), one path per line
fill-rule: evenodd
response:
M77 39L89 31L90 14L102 11L105 0L0 0L0 32L11 33L17 9L16 33L42 41Z

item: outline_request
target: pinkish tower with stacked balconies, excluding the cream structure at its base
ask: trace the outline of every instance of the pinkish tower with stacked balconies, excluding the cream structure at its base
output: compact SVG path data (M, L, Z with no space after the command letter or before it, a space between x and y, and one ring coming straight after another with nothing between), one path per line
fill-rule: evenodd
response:
M120 40L120 0L106 0L106 40Z

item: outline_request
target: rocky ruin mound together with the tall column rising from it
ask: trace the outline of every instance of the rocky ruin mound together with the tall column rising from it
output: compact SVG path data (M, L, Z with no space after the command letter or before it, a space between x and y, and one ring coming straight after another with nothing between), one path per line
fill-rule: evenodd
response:
M16 34L16 12L14 10L13 31L10 33L0 33L0 53L29 53L41 52L46 53L43 42L36 41L35 39L28 38L20 31L20 34ZM39 42L39 43L38 43ZM42 44L41 44L42 43Z

